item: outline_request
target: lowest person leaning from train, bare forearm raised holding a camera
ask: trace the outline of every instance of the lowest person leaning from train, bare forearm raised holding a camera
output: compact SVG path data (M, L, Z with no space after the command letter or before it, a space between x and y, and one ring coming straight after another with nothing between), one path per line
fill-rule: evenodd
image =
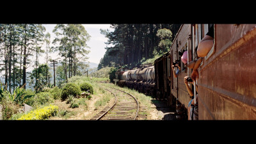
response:
M188 118L189 118L189 120L191 120L191 116L189 115L190 111L191 111L190 110L191 109L191 104L195 104L195 102L194 102L195 100L194 100L194 86L193 86L193 82L194 81L192 79L189 79L188 76L184 77L184 83L185 83L186 88L188 90L188 93L189 93L189 95L191 97L191 100L188 102ZM188 83L192 84L192 89L189 87ZM198 93L198 87L197 87L197 84L196 84L196 95L197 95L197 93ZM197 101L197 99L196 99L196 101Z

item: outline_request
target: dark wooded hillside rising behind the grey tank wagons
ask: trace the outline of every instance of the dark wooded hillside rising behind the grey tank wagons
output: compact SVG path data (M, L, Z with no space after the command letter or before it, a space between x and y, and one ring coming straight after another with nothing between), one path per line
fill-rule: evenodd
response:
M167 52L181 24L111 24L114 31L100 29L108 38L102 67L140 67Z

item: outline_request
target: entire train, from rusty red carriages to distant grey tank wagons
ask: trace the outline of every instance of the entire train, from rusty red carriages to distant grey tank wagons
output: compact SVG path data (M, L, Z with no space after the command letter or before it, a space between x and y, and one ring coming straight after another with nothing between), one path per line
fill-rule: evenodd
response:
M188 119L191 100L184 77L192 70L181 63L178 77L172 63L179 52L188 51L188 62L196 60L196 47L213 26L214 40L198 67L198 120L256 119L256 24L182 24L170 51L152 65L118 69L115 83L166 100L177 119ZM192 84L190 85L192 88Z

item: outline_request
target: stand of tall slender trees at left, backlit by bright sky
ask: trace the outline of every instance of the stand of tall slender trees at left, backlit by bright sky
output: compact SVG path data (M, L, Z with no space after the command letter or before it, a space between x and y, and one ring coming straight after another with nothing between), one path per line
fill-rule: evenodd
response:
M53 42L42 24L0 24L0 72L4 77L0 82L10 92L22 85L26 89L28 83L34 84L36 91L50 87L49 64L53 60L60 66L55 67L56 81L67 83L68 78L84 74L88 67L84 61L90 52L86 45L90 35L84 26L57 24L52 32L56 35ZM49 52L61 58L49 58ZM45 56L46 63L39 60L40 55ZM28 68L33 68L30 74Z

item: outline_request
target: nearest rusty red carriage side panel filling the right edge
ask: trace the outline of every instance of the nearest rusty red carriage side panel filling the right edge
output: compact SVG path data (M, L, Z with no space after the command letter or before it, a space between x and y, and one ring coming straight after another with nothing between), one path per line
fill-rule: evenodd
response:
M198 69L200 120L256 119L256 25L215 24L214 47Z

